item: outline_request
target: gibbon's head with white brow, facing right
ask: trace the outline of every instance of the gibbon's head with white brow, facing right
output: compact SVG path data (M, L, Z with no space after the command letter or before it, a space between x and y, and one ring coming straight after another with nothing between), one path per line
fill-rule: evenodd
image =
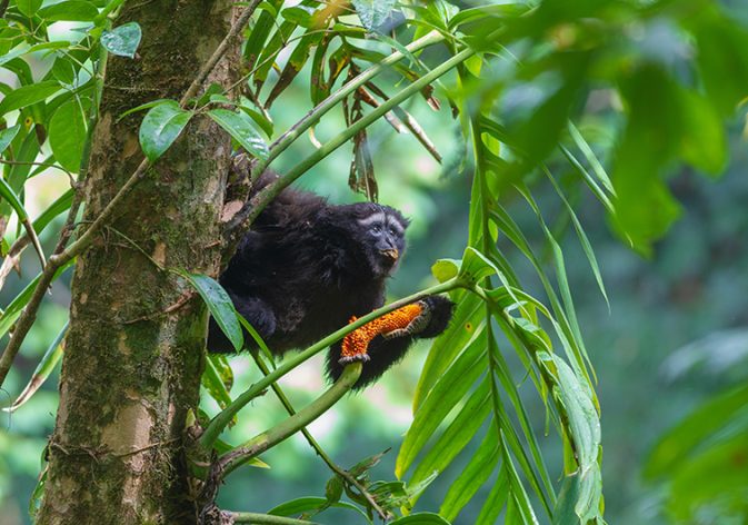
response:
M350 205L349 224L375 277L395 273L406 249L406 228L410 221L395 208L373 202Z

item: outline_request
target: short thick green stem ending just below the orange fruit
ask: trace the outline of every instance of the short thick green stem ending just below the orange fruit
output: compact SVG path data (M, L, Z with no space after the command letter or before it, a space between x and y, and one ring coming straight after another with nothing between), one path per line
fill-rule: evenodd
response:
M236 468L240 467L258 454L263 453L287 437L296 434L299 429L306 427L311 422L329 410L332 405L338 403L338 400L345 396L348 390L351 389L351 387L361 376L362 369L363 364L361 363L352 363L346 366L340 377L338 377L338 380L335 382L325 394L319 396L301 410L297 412L293 416L279 423L269 430L257 435L247 442L243 446L223 455L219 462L221 466L221 478L225 478Z

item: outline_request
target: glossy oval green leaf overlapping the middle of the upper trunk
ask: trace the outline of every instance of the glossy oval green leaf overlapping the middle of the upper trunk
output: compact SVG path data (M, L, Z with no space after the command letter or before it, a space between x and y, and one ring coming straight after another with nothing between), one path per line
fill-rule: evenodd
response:
M192 115L173 100L154 106L146 113L140 125L140 146L148 160L153 162L169 149Z

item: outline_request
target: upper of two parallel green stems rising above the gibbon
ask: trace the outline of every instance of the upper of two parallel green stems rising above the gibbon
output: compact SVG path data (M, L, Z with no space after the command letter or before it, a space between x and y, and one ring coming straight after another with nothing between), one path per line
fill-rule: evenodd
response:
M406 46L406 49L413 53L428 46L441 42L443 39L445 37L438 31L431 31L418 40L410 42L408 46ZM385 58L381 62L376 63L366 71L357 75L350 81L346 82L346 85L343 85L339 90L322 100L315 109L309 111L306 117L295 123L288 131L286 131L280 138L278 138L278 140L272 143L272 147L270 148L270 155L267 159L261 159L257 164L255 169L252 169L252 174L259 175L265 171L270 162L272 162L281 152L283 152L297 138L299 138L301 133L317 123L325 113L335 108L338 102L393 63L402 60L403 57L405 55L401 51L395 51L392 55Z

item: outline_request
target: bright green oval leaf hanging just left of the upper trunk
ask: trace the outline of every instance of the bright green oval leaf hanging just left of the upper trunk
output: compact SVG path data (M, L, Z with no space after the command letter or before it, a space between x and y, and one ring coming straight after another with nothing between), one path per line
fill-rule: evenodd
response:
M54 159L68 171L80 169L88 131L81 105L74 98L54 111L49 121L49 146Z

